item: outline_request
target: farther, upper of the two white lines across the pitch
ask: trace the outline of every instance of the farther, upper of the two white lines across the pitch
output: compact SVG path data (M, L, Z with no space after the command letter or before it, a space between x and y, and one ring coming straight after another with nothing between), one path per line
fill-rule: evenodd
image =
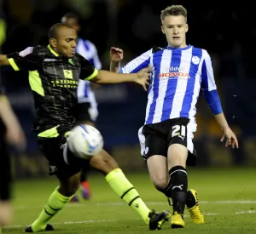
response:
M255 200L234 201L200 201L200 204L256 204ZM148 205L166 205L164 202L146 202ZM65 207L87 207L87 206L127 206L126 203L67 203ZM16 209L42 208L43 206L15 206Z

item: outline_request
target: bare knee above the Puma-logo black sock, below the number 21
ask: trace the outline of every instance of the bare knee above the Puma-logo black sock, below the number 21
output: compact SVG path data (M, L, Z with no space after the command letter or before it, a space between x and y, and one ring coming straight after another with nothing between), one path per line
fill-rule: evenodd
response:
M188 157L187 147L180 144L173 144L168 148L168 169L170 170L176 166L186 167L186 161Z

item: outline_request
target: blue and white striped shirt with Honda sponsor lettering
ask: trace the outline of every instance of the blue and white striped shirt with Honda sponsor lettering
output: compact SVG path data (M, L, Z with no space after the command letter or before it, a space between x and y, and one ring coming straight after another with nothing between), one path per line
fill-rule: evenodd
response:
M177 117L195 120L200 90L212 112L222 112L207 50L191 45L186 48L150 49L119 72L135 73L148 65L151 75L144 124Z

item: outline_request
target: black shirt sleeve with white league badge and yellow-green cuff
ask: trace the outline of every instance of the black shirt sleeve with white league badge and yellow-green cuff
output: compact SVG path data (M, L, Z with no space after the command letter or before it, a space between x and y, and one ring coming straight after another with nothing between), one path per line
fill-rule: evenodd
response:
M15 71L38 70L41 66L40 56L38 55L37 47L27 47L26 49L7 55L9 64L13 67Z

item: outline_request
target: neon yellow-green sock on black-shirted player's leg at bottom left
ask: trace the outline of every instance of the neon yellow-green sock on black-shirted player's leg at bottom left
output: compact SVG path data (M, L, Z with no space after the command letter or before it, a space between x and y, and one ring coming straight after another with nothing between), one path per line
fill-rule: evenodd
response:
M49 196L48 203L44 205L44 209L39 214L38 219L32 223L32 231L44 231L48 221L72 198L61 195L58 188L56 187L55 191Z

